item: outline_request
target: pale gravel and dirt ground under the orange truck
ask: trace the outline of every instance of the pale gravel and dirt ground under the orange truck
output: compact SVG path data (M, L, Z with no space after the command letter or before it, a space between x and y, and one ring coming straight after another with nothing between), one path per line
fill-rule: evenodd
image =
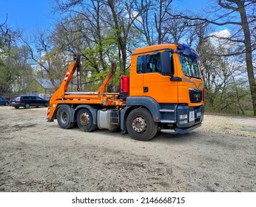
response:
M0 107L0 191L256 191L256 119L205 115L148 142L60 129L47 108Z

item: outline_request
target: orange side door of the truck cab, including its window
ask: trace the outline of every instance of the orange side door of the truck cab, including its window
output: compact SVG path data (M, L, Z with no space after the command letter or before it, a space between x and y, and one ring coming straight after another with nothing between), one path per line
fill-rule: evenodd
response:
M143 95L154 98L158 103L178 102L178 82L170 81L170 74L175 73L171 52L169 52L169 61L171 62L169 75L166 75L163 72L166 65L161 58L161 52L144 55Z

